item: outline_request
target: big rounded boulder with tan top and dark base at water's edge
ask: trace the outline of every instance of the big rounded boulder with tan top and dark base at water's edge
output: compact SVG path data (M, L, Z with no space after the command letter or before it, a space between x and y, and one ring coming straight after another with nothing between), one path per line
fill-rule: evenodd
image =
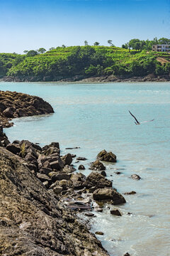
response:
M112 201L114 205L126 202L125 198L113 188L98 188L94 191L93 198L96 201Z

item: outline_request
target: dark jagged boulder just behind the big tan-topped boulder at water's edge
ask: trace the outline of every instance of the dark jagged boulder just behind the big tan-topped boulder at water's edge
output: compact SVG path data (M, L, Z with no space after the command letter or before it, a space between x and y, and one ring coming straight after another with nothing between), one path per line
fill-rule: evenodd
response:
M103 175L98 174L97 172L92 172L89 174L89 176L87 176L84 186L86 188L109 188L112 187L112 182L108 181L107 178L104 178Z

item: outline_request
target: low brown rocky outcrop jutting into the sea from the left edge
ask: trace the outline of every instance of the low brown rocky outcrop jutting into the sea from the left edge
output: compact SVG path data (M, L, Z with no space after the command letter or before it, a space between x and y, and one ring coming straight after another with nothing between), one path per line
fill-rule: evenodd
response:
M11 118L50 114L52 106L37 96L19 92L0 91L0 121L4 127L11 127Z

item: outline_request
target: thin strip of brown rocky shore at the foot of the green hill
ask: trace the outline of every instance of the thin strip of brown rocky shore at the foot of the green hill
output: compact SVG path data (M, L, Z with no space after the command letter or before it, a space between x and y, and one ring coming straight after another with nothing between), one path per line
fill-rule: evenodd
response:
M98 77L84 77L83 75L76 75L72 78L59 77L57 80L48 76L26 76L26 77L13 77L6 76L1 78L2 82L169 82L169 75L154 75L149 74L146 76L131 77L129 75L101 75Z

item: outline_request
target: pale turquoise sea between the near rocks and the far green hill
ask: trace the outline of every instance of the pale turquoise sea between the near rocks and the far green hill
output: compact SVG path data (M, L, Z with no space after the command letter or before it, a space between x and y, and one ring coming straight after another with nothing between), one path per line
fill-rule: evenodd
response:
M15 126L5 129L8 139L28 139L43 146L60 142L62 154L66 147L89 163L102 149L113 151L116 164L108 164L107 178L120 193L136 191L125 196L127 203L118 208L122 217L95 213L92 231L99 236L111 255L125 252L139 256L170 255L170 83L26 83L0 82L0 90L38 95L50 102L55 114L14 119ZM130 110L139 121L135 125ZM77 166L75 164L75 166ZM122 174L116 175L120 169ZM130 178L141 176L140 181ZM128 213L132 215L128 215Z

